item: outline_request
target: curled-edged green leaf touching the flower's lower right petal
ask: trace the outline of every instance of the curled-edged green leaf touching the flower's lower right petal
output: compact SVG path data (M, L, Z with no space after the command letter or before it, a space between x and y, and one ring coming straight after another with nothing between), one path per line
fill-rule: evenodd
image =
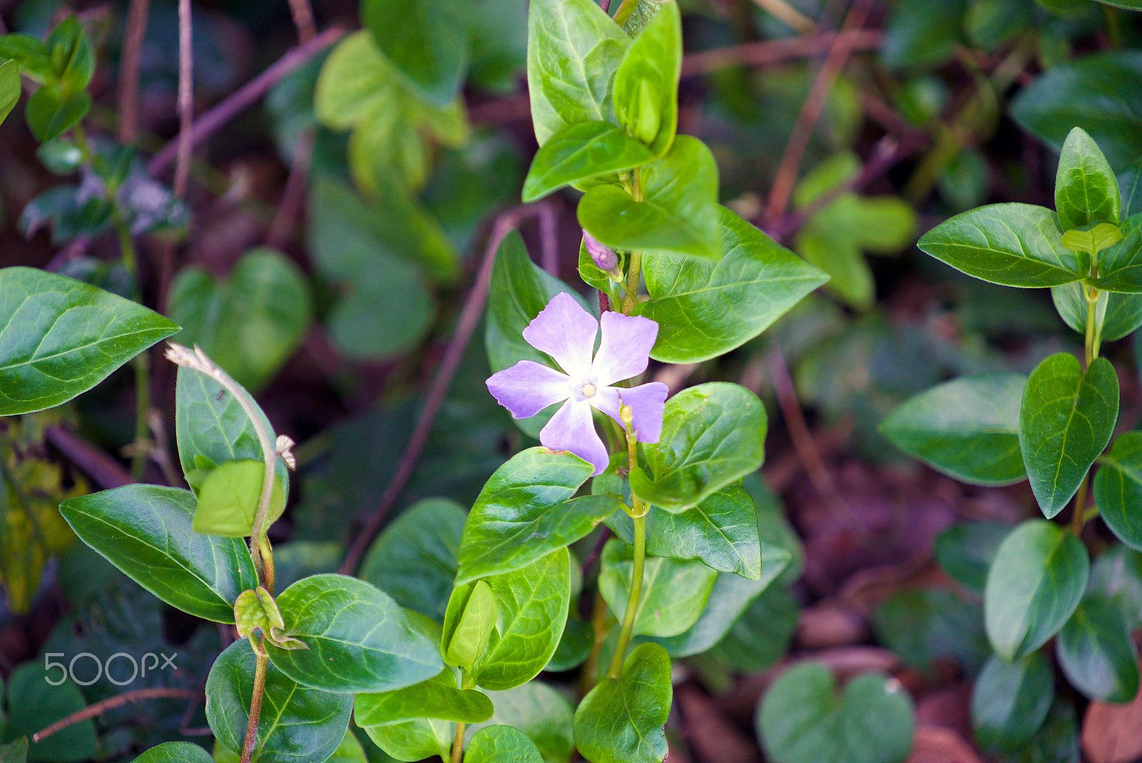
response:
M666 402L659 442L642 445L648 471L630 473L630 489L670 513L692 508L762 465L765 428L765 408L745 387L684 389Z

